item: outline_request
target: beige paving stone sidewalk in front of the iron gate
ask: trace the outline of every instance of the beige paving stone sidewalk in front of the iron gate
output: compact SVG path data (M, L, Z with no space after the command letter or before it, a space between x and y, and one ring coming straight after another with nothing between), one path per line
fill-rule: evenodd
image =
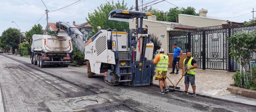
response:
M179 70L179 74L169 74L171 71L172 68L168 68L167 77L174 85L176 85L181 78L182 70ZM233 74L234 72L224 70L196 69L196 93L202 93L207 96L222 96L230 94L231 92L227 90L227 87L232 84ZM172 85L168 79L166 79L166 81L167 85ZM153 80L153 83L159 85L158 80ZM181 87L181 89L185 89L184 77L177 86ZM189 92L192 92L191 86L189 87Z

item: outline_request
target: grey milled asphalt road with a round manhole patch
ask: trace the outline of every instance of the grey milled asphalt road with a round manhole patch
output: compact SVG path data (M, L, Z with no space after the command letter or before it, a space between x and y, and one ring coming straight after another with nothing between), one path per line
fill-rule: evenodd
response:
M39 68L29 58L0 55L1 102L5 112L255 112L256 107L159 87L111 86L84 67ZM0 105L1 111L1 105Z

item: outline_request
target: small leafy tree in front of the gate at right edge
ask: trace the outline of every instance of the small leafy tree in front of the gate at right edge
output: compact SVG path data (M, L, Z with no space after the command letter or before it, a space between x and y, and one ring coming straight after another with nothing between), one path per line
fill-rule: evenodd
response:
M246 84L246 81L251 80L249 79L249 63L251 59L251 55L253 52L256 51L256 32L236 32L234 35L228 36L227 40L230 45L230 55L233 56L237 62L242 65L242 68L245 72L245 79L244 83ZM241 60L240 60L241 58Z

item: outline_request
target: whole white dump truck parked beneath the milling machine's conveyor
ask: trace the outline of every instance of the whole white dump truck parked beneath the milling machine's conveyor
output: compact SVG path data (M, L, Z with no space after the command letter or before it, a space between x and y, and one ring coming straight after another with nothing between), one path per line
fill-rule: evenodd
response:
M31 64L38 67L57 65L68 67L73 50L69 36L33 35L31 45Z

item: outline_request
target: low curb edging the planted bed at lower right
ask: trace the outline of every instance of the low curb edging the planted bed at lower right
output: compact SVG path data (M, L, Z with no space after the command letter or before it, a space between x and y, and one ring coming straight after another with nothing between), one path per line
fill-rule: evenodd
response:
M245 88L239 88L239 87L232 87L233 85L230 84L231 87L228 87L228 90L235 94L235 95L239 95L239 96L244 96L247 98L253 98L256 99L256 91L255 90L249 90L249 89L245 89Z

